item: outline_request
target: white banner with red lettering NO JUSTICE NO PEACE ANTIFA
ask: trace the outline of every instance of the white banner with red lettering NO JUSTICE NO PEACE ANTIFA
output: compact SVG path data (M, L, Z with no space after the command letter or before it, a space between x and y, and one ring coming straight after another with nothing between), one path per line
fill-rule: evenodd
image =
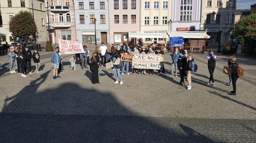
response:
M61 54L84 53L82 42L59 39L59 51Z

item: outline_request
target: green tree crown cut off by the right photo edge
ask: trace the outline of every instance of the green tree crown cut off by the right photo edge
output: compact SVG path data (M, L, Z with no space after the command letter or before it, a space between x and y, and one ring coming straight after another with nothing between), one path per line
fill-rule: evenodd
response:
M234 36L240 41L256 39L256 14L239 20L234 27Z

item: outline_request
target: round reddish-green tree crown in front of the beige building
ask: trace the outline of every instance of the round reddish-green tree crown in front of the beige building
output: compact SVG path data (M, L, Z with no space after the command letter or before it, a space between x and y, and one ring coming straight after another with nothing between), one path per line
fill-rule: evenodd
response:
M9 22L10 32L16 38L29 38L37 32L32 13L21 10Z

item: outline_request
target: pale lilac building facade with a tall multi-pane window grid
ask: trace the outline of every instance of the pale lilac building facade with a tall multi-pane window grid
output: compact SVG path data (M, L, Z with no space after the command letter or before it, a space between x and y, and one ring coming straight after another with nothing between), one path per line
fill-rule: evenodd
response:
M172 0L171 31L200 31L200 16L201 0Z

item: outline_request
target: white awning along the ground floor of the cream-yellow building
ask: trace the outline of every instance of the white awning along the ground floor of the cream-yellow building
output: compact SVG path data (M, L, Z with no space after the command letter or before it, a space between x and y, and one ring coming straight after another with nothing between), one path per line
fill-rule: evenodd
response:
M166 32L128 32L129 38L168 38Z

